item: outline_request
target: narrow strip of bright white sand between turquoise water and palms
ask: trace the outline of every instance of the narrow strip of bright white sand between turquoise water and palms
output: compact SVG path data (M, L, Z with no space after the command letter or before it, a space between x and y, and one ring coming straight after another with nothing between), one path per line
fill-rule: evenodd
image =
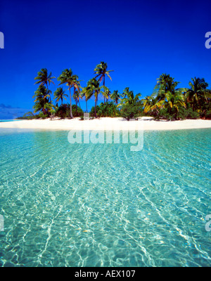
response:
M142 117L138 121L127 121L122 118L103 117L101 119L34 119L14 122L0 122L1 128L16 129L51 129L51 130L179 130L211 128L211 120L154 121Z

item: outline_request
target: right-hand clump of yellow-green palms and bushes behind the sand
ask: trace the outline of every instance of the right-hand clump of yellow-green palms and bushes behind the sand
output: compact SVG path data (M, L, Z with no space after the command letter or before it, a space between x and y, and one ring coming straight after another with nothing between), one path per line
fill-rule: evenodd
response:
M160 75L151 96L143 100L144 112L168 120L209 118L211 91L205 79L192 78L190 88L177 88L169 74Z

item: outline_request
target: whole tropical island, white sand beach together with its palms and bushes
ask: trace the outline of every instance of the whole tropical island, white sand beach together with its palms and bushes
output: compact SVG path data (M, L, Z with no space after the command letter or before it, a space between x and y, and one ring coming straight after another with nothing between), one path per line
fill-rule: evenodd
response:
M211 90L204 78L191 78L188 88L179 88L179 82L170 74L161 74L151 96L141 98L141 93L134 93L129 87L122 93L118 90L112 93L106 86L106 77L112 81L110 72L113 70L108 70L107 63L101 62L94 68L94 77L82 87L77 74L71 68L65 69L57 78L58 87L52 93L51 84L55 84L56 77L42 68L34 78L34 84L38 85L32 96L34 112L18 117L17 122L1 122L0 126L82 130L87 104L94 100L89 120L86 118L86 129L90 130L97 127L127 130L127 124L122 121L132 119L144 121L144 130L211 128ZM98 105L99 97L103 102ZM82 110L81 100L85 100L86 110Z

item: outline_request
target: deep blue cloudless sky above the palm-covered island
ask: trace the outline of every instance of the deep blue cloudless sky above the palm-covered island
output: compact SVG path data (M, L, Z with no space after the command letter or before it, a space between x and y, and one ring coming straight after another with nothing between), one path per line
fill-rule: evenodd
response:
M106 79L111 91L129 86L143 97L164 72L179 86L196 76L211 87L210 11L203 0L1 0L0 119L32 110L34 77L44 67L56 77L71 67L86 86L105 61L115 70Z

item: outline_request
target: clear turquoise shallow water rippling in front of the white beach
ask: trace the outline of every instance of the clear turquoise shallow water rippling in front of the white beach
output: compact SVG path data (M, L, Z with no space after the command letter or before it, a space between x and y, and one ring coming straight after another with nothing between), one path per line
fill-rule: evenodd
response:
M0 131L0 266L210 266L210 129L144 147Z

